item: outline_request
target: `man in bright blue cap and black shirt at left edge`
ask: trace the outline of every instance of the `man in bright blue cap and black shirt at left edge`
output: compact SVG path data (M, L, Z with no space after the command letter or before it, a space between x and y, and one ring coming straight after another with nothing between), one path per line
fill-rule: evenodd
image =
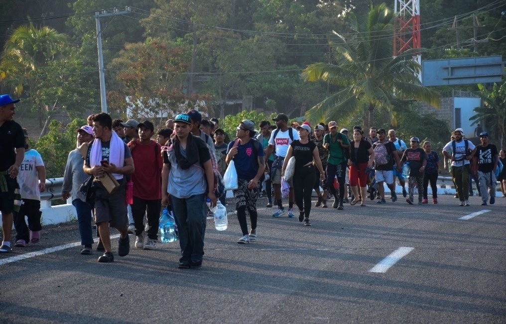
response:
M14 100L8 94L0 95L0 211L4 234L0 253L12 251L14 199L17 196L16 200L21 201L17 176L25 156L25 136L21 125L14 121L16 102L19 99Z

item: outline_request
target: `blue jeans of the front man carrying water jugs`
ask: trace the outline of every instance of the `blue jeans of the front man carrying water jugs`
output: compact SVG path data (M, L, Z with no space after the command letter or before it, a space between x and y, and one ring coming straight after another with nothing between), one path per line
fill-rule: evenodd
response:
M179 231L180 262L202 261L207 216L205 194L177 198L170 195L174 218Z

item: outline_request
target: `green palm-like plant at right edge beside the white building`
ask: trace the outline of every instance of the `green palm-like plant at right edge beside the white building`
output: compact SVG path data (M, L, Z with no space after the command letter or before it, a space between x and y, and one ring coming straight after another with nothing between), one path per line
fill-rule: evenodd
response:
M500 147L505 147L506 141L506 82L503 84L494 83L492 89L487 89L483 84L478 83L477 94L480 96L483 104L474 109L476 115L470 118L474 120L473 124L484 121L491 137L500 141Z

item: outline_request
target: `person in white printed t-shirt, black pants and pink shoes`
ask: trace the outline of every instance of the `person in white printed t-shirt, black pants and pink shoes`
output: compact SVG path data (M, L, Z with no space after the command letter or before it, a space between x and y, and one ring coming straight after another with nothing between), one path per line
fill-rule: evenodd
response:
M28 131L23 128L25 135L25 157L19 168L18 183L22 204L19 212L14 211L14 228L16 229L17 247L25 247L28 242L40 241L40 193L46 191L46 167L40 153L29 148ZM28 219L26 226L25 216Z

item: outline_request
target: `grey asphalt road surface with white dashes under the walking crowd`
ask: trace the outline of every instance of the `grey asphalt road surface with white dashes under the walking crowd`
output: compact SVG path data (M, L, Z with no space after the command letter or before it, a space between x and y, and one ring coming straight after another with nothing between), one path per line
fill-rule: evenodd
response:
M229 227L207 221L200 269L177 268L178 242L138 250L134 236L128 256L114 239L115 261L99 263L79 254L77 222L46 226L39 243L0 255L0 322L506 323L506 198L399 197L330 201L312 227L297 212L273 218L261 198L248 245L228 199Z

